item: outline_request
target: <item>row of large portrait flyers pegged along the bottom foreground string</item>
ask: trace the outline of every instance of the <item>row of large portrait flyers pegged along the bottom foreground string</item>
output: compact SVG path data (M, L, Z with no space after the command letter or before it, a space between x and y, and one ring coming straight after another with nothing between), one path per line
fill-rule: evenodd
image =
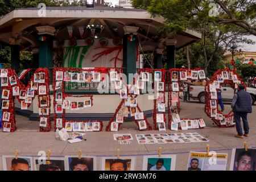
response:
M144 155L143 171L175 171L176 155ZM230 170L255 171L256 150L237 148L232 150ZM101 171L135 171L136 157L102 157ZM96 171L95 156L65 156L49 160L28 156L2 156L5 171ZM188 171L225 171L228 154L217 152L190 152ZM137 168L138 169L138 168ZM141 169L139 169L141 170Z

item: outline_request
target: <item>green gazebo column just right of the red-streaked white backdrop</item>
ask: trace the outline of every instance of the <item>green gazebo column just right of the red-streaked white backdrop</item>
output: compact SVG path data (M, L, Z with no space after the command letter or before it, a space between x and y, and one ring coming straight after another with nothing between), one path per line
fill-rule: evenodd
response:
M129 79L129 73L136 73L136 56L137 56L137 41L130 41L130 34L132 33L134 36L137 34L138 27L125 26L123 30L125 31L125 35L123 35L123 72L127 76L127 83L131 84L133 81Z

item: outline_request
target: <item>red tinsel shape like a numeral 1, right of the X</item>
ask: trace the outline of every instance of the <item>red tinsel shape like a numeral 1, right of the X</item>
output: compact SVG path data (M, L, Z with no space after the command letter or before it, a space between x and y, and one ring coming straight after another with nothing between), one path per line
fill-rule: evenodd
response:
M157 91L157 86L158 86L157 82L158 81L155 81L155 78L154 78L154 82L152 82L152 85L154 87L154 94L155 93L163 93L163 104L165 104L165 102L166 102L166 94L165 94L166 93L166 70L163 69L163 68L162 69L143 68L143 69L139 69L138 74L141 75L142 72L152 73L152 77L154 77L155 72L161 72L162 73L162 77L161 77L160 82L163 82L164 91ZM155 97L156 97L156 95L155 95ZM156 126L157 125L156 114L158 114L158 111L156 110L157 108L158 108L158 102L157 102L157 98L156 98L156 99L154 99L154 108L153 108L153 113L152 113L152 118L153 118L154 129L155 130L158 129L158 126ZM164 107L164 110L165 110L165 107ZM164 121L164 124L166 125L166 112L164 111L164 112L161 112L160 114L163 114L163 121Z

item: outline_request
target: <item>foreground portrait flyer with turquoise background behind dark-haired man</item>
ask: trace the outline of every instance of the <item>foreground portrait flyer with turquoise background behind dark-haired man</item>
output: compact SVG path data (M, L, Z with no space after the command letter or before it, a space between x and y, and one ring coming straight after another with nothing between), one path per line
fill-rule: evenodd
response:
M143 171L175 171L176 155L144 155Z

